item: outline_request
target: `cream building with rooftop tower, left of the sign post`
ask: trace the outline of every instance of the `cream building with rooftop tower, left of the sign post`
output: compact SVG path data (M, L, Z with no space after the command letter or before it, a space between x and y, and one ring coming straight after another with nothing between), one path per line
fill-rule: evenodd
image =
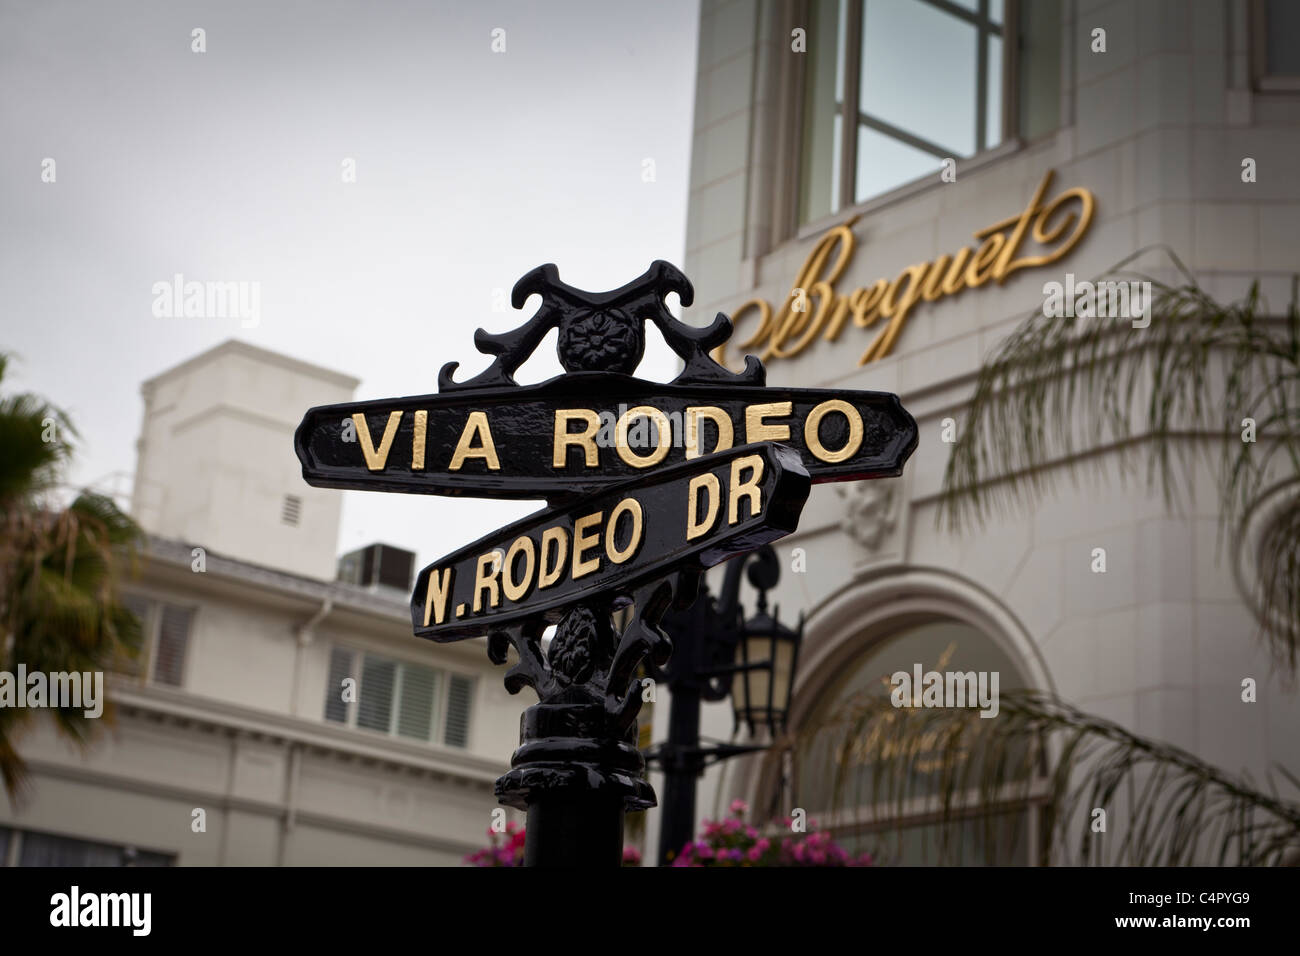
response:
M87 753L32 722L0 861L450 865L486 843L523 705L484 641L411 636L413 554L335 561L342 494L294 455L303 412L356 384L234 341L144 382L144 650Z

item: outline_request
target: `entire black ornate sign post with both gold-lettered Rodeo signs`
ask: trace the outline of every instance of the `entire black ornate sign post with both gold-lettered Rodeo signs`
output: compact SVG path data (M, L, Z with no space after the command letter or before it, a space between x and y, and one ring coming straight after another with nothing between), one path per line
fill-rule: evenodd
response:
M506 688L538 695L497 780L498 799L528 813L530 866L618 866L623 814L654 806L636 671L667 662L670 606L690 606L705 568L794 531L811 483L898 475L916 446L897 395L767 389L754 356L727 371L710 350L731 321L685 325L668 293L693 298L664 261L599 294L533 269L512 302L541 295L537 313L474 336L495 356L485 372L456 382L448 363L438 394L312 408L294 436L313 485L547 501L424 568L411 598L416 636L486 636L495 663L514 646ZM667 385L632 377L646 323L684 363ZM551 329L564 375L519 385ZM628 605L618 632L612 613Z

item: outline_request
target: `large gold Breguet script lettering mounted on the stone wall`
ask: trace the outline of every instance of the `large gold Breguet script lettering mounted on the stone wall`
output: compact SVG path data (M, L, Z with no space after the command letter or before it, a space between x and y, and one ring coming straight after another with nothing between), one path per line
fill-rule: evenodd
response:
M1079 243L1092 224L1096 200L1088 190L1075 187L1044 203L1050 185L1052 170L1048 170L1024 212L976 232L978 246L909 265L893 281L878 278L870 286L841 295L835 284L853 258L855 239L850 226L857 221L854 216L818 239L776 315L763 299L750 299L732 313L737 329L750 312L757 312L759 321L746 339L740 339L742 333L737 332L737 351L741 355L754 352L763 362L793 358L819 337L827 342L838 341L853 316L859 329L879 329L858 364L883 359L919 303L936 302L963 289L979 289L989 280L1001 285L1018 269L1054 263ZM1017 258L1027 234L1046 251ZM729 364L724 349L720 346L714 358Z

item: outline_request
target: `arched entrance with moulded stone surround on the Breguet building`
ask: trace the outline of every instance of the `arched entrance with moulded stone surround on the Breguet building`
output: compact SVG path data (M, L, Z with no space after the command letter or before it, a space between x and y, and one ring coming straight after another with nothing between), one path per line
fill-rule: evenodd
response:
M832 594L810 618L790 715L797 743L770 752L757 773L751 765L745 792L763 814L785 817L801 808L841 844L888 862L980 862L991 834L1000 862L1036 862L1046 790L1041 762L1019 775L993 813L965 814L946 843L939 839L944 774L937 757L927 763L922 750L914 761L906 801L881 799L889 791L875 786L876 766L868 758L880 752L880 739L867 739L870 731L845 719L836 723L836 717L863 695L888 700L890 676L918 667L983 675L982 689L993 706L993 674L997 695L1052 689L1036 645L993 596L944 570L876 572ZM978 767L971 770L974 778ZM888 773L897 769L887 769L881 784ZM968 791L956 790L970 799Z

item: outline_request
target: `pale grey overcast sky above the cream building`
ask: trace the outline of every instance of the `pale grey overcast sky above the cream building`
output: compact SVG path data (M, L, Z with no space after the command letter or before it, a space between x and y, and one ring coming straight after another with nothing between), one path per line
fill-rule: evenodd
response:
M0 0L4 389L72 414L90 484L134 471L140 382L228 338L354 375L359 399L425 394L447 360L486 365L477 326L530 315L491 304L534 265L604 290L681 264L697 12ZM174 273L260 282L259 324L155 317ZM647 339L641 375L671 375ZM341 551L421 564L537 507L339 494Z

